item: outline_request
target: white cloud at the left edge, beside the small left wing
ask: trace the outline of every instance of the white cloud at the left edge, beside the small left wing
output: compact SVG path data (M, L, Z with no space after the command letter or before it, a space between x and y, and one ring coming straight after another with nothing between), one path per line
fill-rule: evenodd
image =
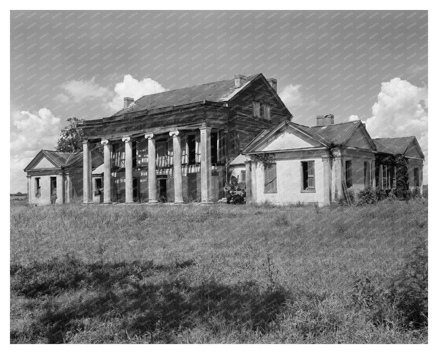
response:
M38 113L13 111L11 113L11 193L25 192L28 163L41 149L54 150L61 129L61 119L47 108Z

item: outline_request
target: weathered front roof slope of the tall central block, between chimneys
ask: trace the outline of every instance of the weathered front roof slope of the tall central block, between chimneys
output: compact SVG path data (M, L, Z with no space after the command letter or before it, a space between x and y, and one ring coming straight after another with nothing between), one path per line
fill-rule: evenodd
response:
M244 86L247 86L251 83L251 81L258 79L261 76L263 75L254 74L246 77L245 84L240 88L236 88L234 85L234 79L230 79L146 95L138 98L138 100L134 101L134 104L131 104L129 107L114 113L112 117L144 110L188 105L204 100L226 103L226 101L228 101L234 95L237 95L237 93L244 88Z

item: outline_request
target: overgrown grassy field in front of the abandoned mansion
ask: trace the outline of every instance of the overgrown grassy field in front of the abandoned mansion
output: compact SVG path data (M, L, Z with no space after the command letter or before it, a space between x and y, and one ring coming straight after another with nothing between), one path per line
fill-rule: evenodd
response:
M424 262L426 200L324 208L11 201L10 338L427 343Z

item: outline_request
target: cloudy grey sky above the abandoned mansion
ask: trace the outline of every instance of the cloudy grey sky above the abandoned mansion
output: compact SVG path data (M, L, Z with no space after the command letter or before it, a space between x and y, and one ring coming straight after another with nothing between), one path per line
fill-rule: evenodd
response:
M427 11L11 11L11 193L72 116L263 73L293 121L361 119L371 137L415 135L426 156Z

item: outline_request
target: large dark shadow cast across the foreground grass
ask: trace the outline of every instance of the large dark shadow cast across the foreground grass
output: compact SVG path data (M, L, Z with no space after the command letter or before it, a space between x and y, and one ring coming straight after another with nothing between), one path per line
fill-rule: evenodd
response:
M31 342L68 342L74 334L88 330L90 318L100 319L101 327L111 322L113 328L89 333L89 343L145 335L151 343L171 343L178 333L200 323L213 331L228 325L268 330L286 299L283 291L260 292L254 283L193 285L180 277L147 282L155 273L193 264L192 260L171 267L152 262L87 264L65 257L28 267L11 266L11 291L38 302L34 324L26 333L11 330L11 343L23 337ZM78 296L62 304L56 301L68 289L84 288L98 295L85 301Z

